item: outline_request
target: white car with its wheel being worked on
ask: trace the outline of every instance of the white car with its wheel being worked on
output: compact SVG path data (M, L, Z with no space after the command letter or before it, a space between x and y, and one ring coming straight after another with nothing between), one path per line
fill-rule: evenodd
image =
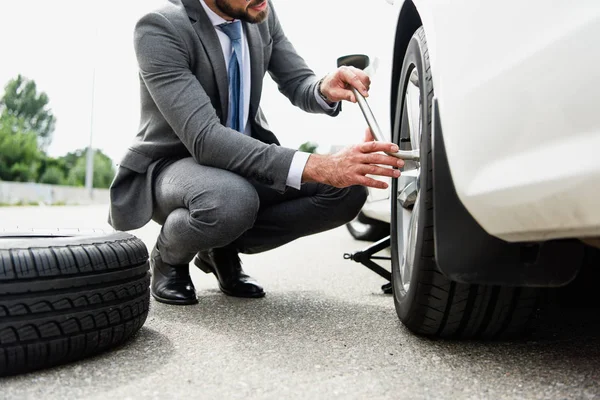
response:
M600 2L369 3L369 104L421 157L349 229L390 224L412 331L517 334L600 247Z

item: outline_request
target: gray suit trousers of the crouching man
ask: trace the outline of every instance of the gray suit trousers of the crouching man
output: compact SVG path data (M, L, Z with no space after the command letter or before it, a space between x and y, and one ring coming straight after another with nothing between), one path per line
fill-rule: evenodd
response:
M152 219L166 263L188 264L200 250L233 245L259 253L352 220L367 198L363 186L338 189L305 183L279 193L243 177L196 163L176 161L154 177Z

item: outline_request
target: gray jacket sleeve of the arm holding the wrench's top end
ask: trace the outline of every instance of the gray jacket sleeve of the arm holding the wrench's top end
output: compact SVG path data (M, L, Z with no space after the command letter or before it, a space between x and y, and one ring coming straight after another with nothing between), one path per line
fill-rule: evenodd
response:
M273 2L269 2L271 15L269 24L273 39L273 50L269 61L269 74L293 105L311 113L336 116L341 110L341 103L333 110L324 110L315 97L318 78L306 65L302 57L296 53L294 46L285 36L277 18Z

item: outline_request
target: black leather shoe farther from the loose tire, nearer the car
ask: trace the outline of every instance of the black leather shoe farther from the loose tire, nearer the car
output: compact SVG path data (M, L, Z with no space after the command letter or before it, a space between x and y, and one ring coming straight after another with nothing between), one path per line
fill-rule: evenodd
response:
M207 274L213 273L223 293L234 297L263 297L263 288L246 275L237 251L231 248L205 250L194 258L194 264Z

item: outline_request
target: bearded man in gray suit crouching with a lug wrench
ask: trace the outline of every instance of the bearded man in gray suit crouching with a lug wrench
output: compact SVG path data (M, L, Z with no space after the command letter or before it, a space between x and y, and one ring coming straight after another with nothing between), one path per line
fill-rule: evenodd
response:
M333 155L281 147L260 109L269 72L311 113L335 116L342 100L368 95L364 72L315 77L296 54L271 0L169 0L135 28L140 130L111 185L109 222L131 230L162 225L152 250L152 295L168 304L197 297L189 263L220 289L264 296L238 253L257 253L343 225L365 202L369 175L397 177L403 162L368 141ZM369 134L369 132L367 132Z

